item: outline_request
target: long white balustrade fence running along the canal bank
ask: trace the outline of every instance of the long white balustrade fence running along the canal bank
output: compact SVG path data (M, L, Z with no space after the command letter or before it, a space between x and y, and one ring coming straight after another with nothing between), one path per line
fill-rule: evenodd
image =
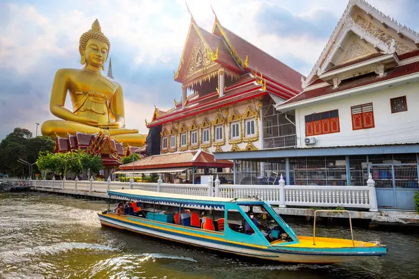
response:
M369 209L378 211L376 202L375 182L371 175L367 186L300 186L285 185L280 179L278 186L266 185L231 185L220 184L218 176L215 181L208 180L208 184L176 184L163 183L137 183L119 181L79 181L76 180L29 180L29 179L3 179L3 183L18 184L30 183L34 189L57 189L106 193L107 190L139 189L161 193L195 195L206 197L258 198L279 207L338 207Z

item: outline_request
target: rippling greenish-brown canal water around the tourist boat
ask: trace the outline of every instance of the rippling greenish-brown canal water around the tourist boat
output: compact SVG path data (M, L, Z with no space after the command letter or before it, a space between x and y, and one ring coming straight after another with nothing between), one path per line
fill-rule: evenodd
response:
M419 234L354 229L388 255L318 266L249 261L102 228L90 201L42 193L0 193L0 278L419 278ZM290 223L297 234L311 225ZM350 238L347 227L319 236Z

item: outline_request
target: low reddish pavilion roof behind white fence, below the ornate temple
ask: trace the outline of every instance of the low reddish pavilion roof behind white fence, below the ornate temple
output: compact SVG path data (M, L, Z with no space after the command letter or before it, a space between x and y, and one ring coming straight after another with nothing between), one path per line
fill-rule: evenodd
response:
M214 155L201 151L196 160L192 161L198 151L185 151L149 156L142 160L128 163L120 169L157 169L162 167L233 167L230 160L214 160Z

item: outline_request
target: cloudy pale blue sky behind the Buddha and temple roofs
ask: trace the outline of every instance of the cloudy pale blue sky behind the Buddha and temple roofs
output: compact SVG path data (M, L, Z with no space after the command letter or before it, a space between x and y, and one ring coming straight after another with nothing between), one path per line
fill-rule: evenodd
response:
M303 75L328 41L347 0L188 0L194 19L221 24ZM417 0L370 0L419 30ZM147 133L145 119L180 100L173 80L191 17L184 0L0 0L0 140L13 128L36 134L55 119L50 92L59 68L81 68L78 42L95 19L110 40L114 79L124 90L126 127ZM105 66L107 73L108 65ZM71 109L67 98L66 107ZM38 134L41 126L38 128Z

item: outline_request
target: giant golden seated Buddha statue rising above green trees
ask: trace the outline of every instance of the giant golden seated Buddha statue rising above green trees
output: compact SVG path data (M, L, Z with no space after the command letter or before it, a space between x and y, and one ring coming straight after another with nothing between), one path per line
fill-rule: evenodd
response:
M76 132L95 134L105 130L112 139L131 146L142 146L147 135L124 127L122 86L102 75L110 42L98 20L80 37L82 69L60 69L52 85L50 111L62 120L48 120L41 126L45 136L66 137ZM73 112L64 107L70 93Z

